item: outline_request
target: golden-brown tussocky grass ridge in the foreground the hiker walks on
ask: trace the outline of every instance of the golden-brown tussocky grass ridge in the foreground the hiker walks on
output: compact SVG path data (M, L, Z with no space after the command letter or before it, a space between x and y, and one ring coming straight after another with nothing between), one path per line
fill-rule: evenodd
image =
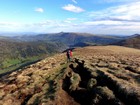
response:
M140 50L94 46L73 50L0 79L0 105L139 105Z

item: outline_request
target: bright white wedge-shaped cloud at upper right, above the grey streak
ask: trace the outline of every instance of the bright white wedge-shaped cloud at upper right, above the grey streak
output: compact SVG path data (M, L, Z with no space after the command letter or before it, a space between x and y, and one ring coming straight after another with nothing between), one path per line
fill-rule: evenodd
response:
M140 21L140 2L110 7L105 10L91 12L93 20L118 20L118 21Z

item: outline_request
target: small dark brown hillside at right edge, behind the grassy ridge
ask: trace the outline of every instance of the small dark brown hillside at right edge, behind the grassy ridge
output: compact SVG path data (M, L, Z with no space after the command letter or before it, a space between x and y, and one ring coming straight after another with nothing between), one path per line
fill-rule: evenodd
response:
M140 35L139 34L132 35L131 37L116 43L115 45L140 49Z

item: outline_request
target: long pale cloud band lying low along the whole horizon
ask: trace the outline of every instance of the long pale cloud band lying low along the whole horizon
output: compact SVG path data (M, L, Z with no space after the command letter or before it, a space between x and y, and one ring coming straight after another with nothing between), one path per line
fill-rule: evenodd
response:
M0 32L54 33L64 31L112 35L133 35L135 33L140 33L140 22L123 22L113 20L77 22L77 20L73 19L68 18L63 21L46 20L27 24L1 22Z

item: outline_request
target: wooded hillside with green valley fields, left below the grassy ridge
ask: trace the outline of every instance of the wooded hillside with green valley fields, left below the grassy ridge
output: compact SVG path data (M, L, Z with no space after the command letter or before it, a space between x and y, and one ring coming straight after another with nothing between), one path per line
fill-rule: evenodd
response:
M0 73L16 69L33 61L42 59L66 48L62 43L16 42L0 39Z

